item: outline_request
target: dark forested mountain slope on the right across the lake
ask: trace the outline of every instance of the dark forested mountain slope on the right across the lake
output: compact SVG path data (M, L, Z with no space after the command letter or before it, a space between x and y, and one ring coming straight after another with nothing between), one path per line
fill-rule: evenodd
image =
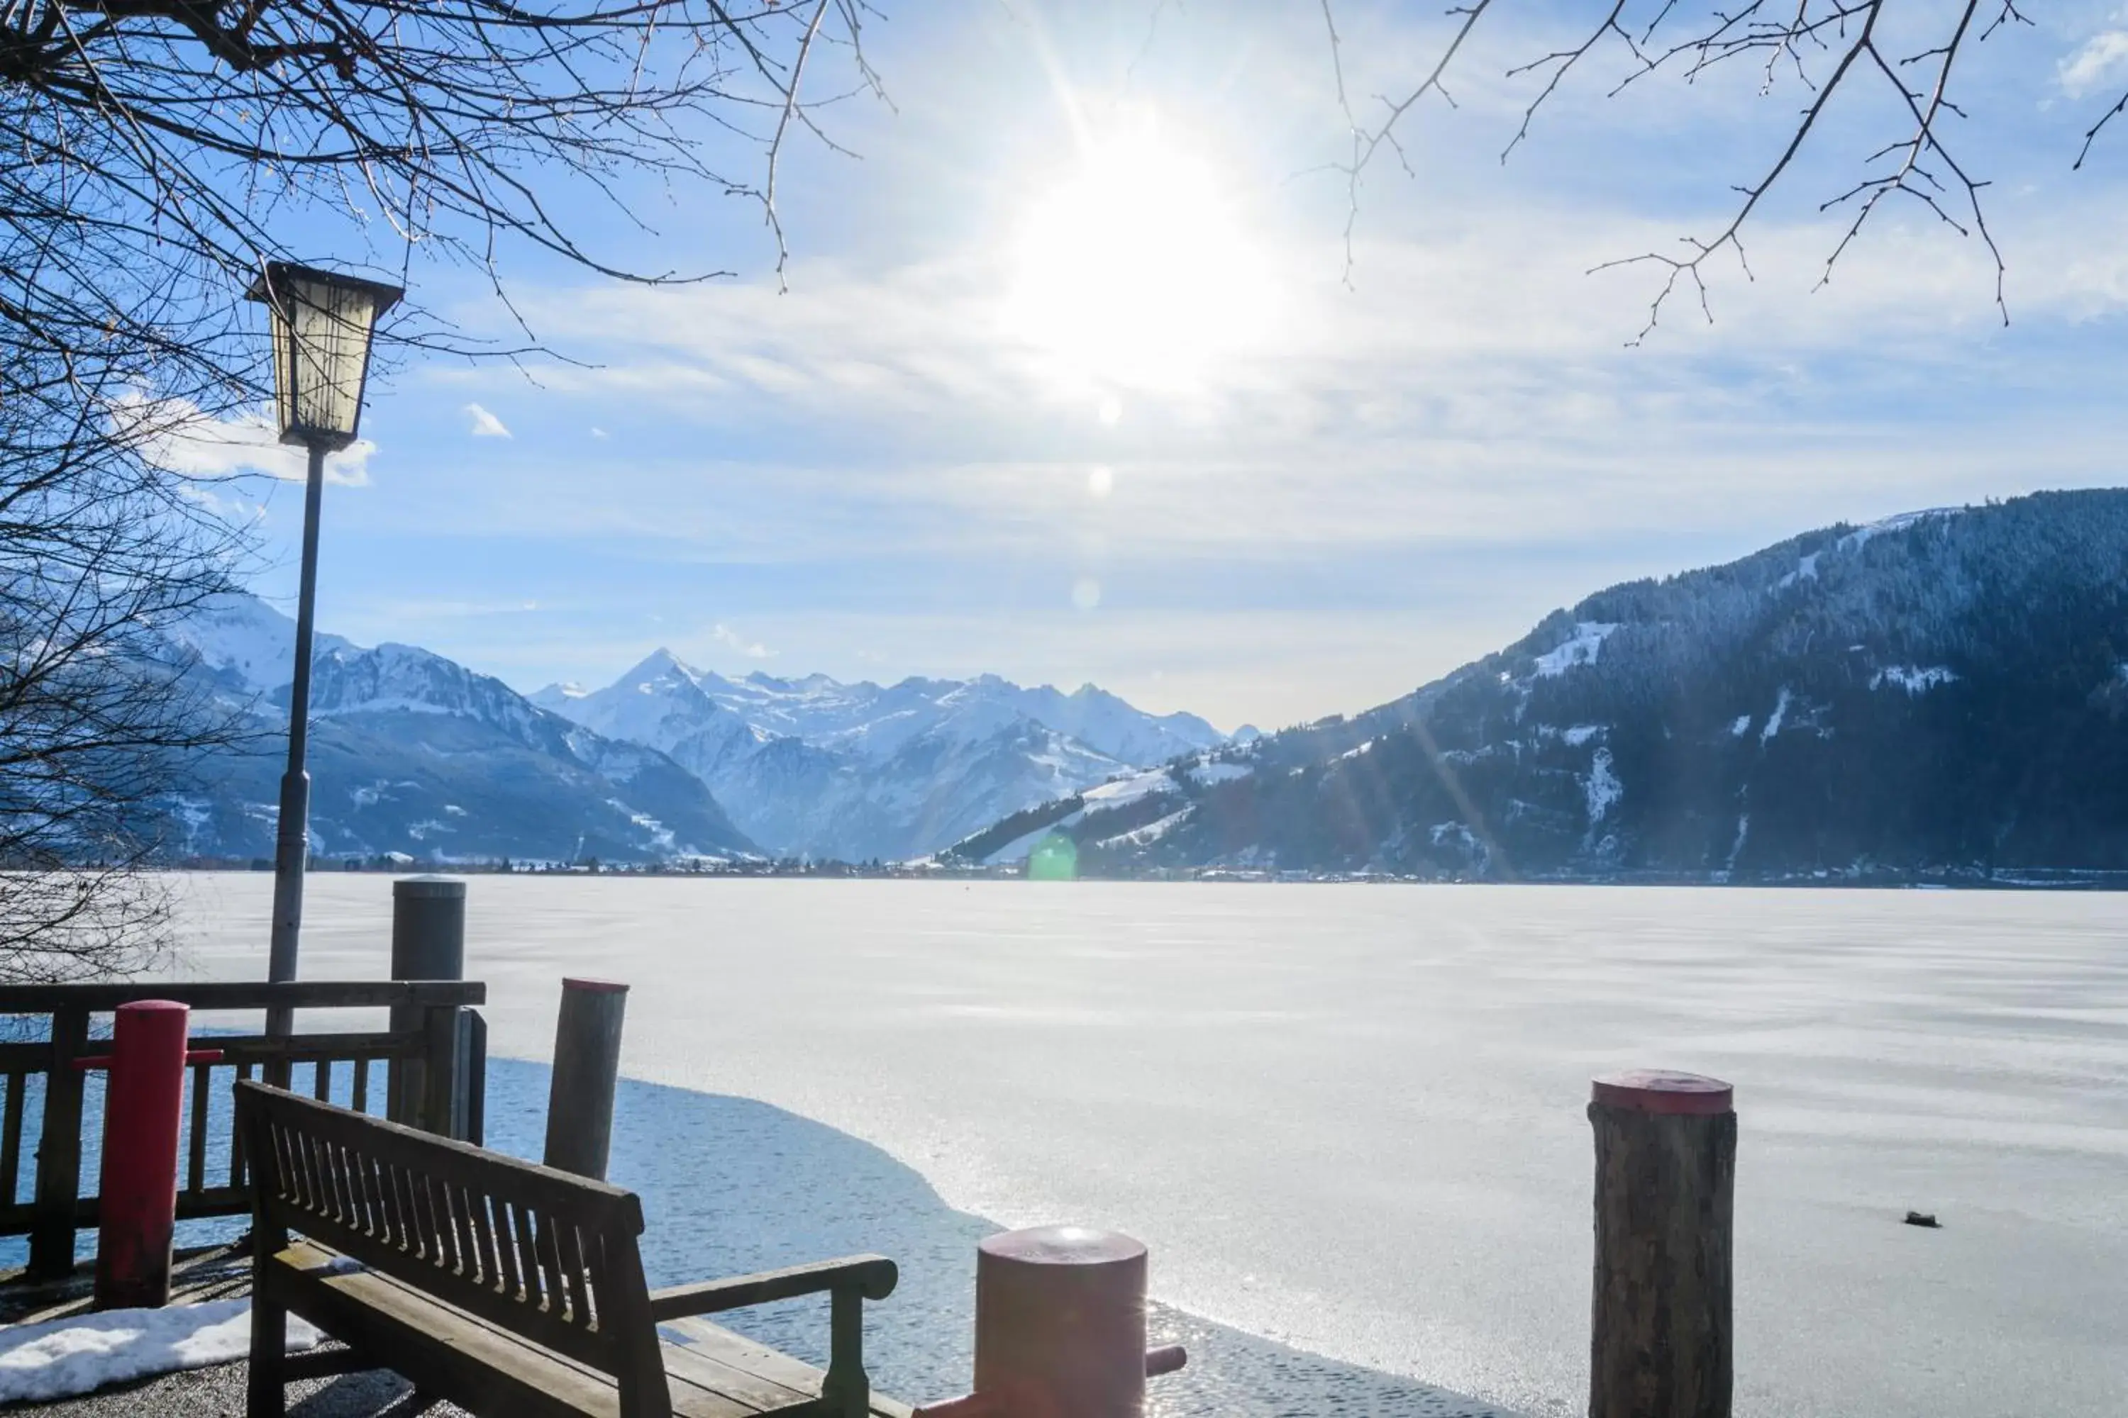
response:
M1353 716L943 861L1817 880L2128 870L2128 491L1834 525L1634 580Z

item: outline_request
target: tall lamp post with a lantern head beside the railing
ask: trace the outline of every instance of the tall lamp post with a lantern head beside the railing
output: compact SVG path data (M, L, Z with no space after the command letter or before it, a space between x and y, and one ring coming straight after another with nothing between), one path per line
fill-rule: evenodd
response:
M362 387L370 372L377 317L398 304L396 285L330 270L268 261L251 300L272 313L275 417L281 442L311 451L302 491L302 593L296 602L296 674L287 691L287 772L281 774L281 816L272 859L270 982L296 978L302 931L302 872L311 840L311 774L304 746L311 716L311 625L317 612L317 512L326 491L326 455L355 440ZM266 1033L294 1029L294 1012L266 1012Z

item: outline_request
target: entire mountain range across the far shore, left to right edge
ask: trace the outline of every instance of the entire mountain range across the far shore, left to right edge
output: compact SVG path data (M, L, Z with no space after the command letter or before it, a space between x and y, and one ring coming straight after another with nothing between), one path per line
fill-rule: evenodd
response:
M257 742L177 857L272 850L294 627L179 631ZM2128 872L2128 491L1826 527L1600 591L1402 699L1268 738L996 676L726 678L658 651L519 695L321 636L313 850L813 857L1494 880Z

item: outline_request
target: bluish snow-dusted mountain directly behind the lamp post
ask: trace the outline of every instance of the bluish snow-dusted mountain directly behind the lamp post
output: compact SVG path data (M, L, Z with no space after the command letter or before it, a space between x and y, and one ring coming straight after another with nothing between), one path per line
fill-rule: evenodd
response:
M179 857L270 857L294 623L228 597L170 629L257 727L196 765L172 808ZM409 644L317 636L311 850L321 857L658 861L751 853L711 791L666 755L526 702L498 678Z

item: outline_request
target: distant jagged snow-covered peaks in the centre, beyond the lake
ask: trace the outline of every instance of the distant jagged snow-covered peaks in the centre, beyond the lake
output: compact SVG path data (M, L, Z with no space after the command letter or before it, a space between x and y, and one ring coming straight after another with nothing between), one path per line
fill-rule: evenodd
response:
M728 680L668 651L604 689L549 685L532 702L670 755L766 850L847 861L919 857L1030 804L1226 742L1196 714L1147 714L1092 685Z

